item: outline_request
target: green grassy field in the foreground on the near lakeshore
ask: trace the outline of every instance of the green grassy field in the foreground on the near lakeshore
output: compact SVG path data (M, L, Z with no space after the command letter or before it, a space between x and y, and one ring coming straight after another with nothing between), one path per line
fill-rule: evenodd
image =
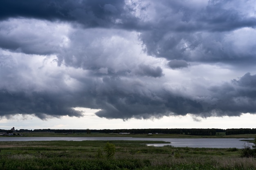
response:
M104 147L116 147L107 159ZM160 141L1 141L0 170L254 170L236 148L153 147Z

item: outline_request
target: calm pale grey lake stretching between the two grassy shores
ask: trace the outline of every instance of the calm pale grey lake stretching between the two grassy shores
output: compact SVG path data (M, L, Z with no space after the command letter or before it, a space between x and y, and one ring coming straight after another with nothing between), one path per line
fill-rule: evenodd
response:
M236 138L137 138L137 137L0 137L0 141L86 141L86 140L130 140L167 141L171 144L148 144L150 146L171 145L191 148L243 148L246 141ZM246 139L248 140L248 139ZM253 140L253 139L250 139Z

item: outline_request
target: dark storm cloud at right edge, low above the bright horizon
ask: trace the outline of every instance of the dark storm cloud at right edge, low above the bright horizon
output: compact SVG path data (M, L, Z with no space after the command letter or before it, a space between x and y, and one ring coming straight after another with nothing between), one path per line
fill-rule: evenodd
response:
M256 75L246 73L240 79L222 86L211 87L216 98L210 112L219 116L239 116L241 113L256 113Z

